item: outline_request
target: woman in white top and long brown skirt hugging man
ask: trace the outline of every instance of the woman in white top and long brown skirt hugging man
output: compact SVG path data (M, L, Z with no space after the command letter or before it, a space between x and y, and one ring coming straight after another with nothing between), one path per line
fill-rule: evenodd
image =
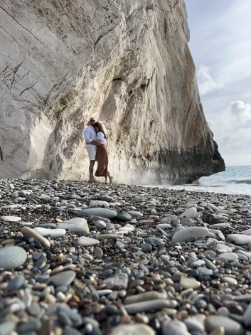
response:
M95 172L95 176L105 177L105 183L107 183L107 178L109 178L110 183L112 183L113 177L108 171L108 151L105 145L107 137L105 136L104 129L99 122L94 124L94 129L97 134L97 141L100 143L100 145L97 145L97 170Z

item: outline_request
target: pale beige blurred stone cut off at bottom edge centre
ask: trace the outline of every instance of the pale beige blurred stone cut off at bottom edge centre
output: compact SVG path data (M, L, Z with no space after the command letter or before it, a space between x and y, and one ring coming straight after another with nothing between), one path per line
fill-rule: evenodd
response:
M155 331L146 324L122 324L112 328L110 335L154 335Z

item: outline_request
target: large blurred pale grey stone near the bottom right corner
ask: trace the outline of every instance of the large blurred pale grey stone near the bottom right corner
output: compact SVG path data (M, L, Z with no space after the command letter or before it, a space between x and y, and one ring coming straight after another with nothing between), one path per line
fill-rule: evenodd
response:
M210 315L205 319L205 329L213 331L214 329L223 326L225 335L243 335L245 331L241 324L228 317L222 315Z

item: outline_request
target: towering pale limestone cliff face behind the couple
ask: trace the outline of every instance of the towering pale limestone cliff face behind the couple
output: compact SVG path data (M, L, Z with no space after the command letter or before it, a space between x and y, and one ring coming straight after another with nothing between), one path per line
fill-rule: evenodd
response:
M118 182L223 171L183 0L84 2L1 1L0 178L86 178L91 116Z

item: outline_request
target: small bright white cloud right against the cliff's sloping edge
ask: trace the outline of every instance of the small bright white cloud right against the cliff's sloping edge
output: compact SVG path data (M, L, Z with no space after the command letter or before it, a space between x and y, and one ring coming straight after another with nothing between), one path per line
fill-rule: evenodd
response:
M224 85L215 83L215 80L210 76L210 68L205 65L200 65L198 68L197 80L201 95L205 95L214 90L220 90L220 88L224 87Z

